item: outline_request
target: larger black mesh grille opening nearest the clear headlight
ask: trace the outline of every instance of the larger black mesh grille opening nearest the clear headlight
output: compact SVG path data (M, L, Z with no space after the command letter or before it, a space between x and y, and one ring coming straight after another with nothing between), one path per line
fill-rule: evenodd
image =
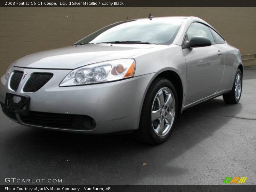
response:
M36 92L51 78L52 73L33 73L23 88L23 92Z

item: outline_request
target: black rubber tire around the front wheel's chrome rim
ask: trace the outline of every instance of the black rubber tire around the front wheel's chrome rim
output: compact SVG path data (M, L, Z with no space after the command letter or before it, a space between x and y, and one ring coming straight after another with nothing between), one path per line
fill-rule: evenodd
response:
M174 110L175 112L174 112L174 120L173 120L171 129L166 135L159 137L156 135L156 133L153 130L154 127L151 121L151 112L152 112L152 105L153 105L156 94L161 88L164 88L164 87L169 88L173 93L174 100L175 100L175 110ZM157 77L149 86L148 92L146 93L141 114L140 114L139 129L133 132L134 138L139 142L152 144L152 145L161 144L164 141L166 141L171 135L171 132L175 123L175 119L178 113L178 108L179 108L178 96L172 82L166 78Z

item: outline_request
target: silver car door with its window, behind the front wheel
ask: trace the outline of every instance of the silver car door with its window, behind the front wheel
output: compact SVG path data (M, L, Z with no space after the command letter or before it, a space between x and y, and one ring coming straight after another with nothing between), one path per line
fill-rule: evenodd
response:
M215 46L208 26L199 22L192 23L188 28L185 41L189 41L193 36L208 38L212 45L183 49L187 68L185 106L219 90L225 64L224 56Z

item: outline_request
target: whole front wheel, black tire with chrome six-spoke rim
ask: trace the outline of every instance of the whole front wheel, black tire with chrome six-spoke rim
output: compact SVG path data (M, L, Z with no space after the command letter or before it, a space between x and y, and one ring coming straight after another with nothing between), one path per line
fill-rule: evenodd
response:
M177 112L175 87L166 78L156 78L145 96L135 139L147 144L163 143L172 132Z

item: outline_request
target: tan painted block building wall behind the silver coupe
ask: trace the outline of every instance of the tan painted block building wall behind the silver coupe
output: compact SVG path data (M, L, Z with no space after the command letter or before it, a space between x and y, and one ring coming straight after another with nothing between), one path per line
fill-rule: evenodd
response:
M256 53L256 7L8 7L0 8L0 75L14 60L68 46L113 22L156 16L197 16L241 54ZM244 65L256 65L246 60Z

